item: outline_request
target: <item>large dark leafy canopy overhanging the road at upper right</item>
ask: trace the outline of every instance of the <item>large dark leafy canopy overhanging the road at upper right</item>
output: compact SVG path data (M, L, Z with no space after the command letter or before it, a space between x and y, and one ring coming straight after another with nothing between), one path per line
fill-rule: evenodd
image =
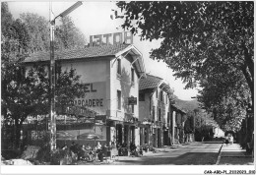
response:
M242 77L253 102L253 2L120 1L117 7L123 29L162 39L151 58L165 61L186 87L208 81L209 73L224 79L227 71L228 80Z

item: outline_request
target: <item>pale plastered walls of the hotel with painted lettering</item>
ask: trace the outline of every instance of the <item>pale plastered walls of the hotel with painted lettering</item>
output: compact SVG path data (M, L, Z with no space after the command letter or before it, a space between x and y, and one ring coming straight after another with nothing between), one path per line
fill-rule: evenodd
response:
M120 59L121 74L117 73L117 65ZM133 59L130 55L118 58L107 57L94 60L79 60L62 64L62 69L76 69L78 75L82 75L81 82L90 84L89 91L84 98L77 98L75 103L85 105L92 110L95 110L99 115L106 115L109 119L115 121L124 121L125 116L139 117L139 103L132 106L128 105L128 97L139 96L138 80L139 74L136 72L136 67L132 65ZM132 81L132 69L134 71L134 81ZM118 109L117 90L121 92L121 108ZM86 102L95 100L95 102ZM99 103L97 103L99 101ZM101 102L102 101L102 102ZM98 105L99 104L99 105ZM110 128L110 141L113 141L113 136L116 135L115 127ZM139 130L135 129L135 144L139 145Z

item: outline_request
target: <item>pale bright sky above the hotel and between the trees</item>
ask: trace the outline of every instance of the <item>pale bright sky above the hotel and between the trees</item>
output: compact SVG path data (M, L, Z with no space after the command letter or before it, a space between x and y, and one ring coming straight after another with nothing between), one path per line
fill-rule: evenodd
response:
M59 15L67 8L72 6L75 1L69 2L52 2L52 11L55 16ZM8 2L9 10L13 14L15 19L20 17L22 13L36 13L43 16L46 20L49 20L49 2ZM83 2L83 5L73 11L69 16L74 21L74 24L78 29L85 34L87 41L89 42L90 35L122 32L120 28L122 20L111 20L110 15L113 15L113 11L116 10L114 2L100 1L100 2ZM56 24L60 23L56 20ZM170 87L174 89L174 94L182 100L191 100L192 96L195 96L198 92L197 89L184 89L185 84L182 84L180 79L175 80L172 76L171 69L166 67L163 62L158 62L150 58L150 51L153 48L160 47L160 40L155 41L141 41L138 35L134 36L134 46L140 50L143 54L146 73L158 76L164 81L169 83Z

